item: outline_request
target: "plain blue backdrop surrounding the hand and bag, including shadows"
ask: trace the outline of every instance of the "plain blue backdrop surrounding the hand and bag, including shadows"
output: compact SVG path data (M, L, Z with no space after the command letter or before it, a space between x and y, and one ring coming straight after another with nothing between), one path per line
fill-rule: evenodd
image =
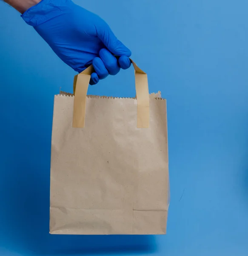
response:
M0 3L1 255L248 255L247 0L90 0L168 104L166 236L48 234L54 94L75 72ZM89 93L134 96L133 70Z

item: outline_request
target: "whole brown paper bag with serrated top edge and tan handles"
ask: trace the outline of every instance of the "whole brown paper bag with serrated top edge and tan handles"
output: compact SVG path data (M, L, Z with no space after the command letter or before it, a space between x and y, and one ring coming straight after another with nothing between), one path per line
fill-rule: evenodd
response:
M86 96L92 67L54 97L51 234L166 233L166 101L134 69L136 98Z

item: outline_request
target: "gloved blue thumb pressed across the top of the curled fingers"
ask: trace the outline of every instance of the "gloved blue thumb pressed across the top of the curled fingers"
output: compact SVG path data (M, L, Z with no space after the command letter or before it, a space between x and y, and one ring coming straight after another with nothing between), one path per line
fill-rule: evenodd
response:
M96 27L97 37L103 42L105 47L117 56L131 56L131 51L119 41L107 23L103 22Z

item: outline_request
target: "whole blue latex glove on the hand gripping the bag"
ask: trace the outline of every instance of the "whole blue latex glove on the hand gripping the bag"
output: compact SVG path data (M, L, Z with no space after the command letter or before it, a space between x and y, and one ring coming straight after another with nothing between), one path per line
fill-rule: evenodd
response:
M23 20L40 34L62 61L81 72L93 64L90 84L131 65L131 51L97 15L71 0L42 0Z

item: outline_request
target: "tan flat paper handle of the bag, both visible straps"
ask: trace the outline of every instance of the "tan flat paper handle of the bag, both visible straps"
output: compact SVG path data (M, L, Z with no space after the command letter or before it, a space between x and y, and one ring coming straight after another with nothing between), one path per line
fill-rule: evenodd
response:
M130 59L131 60L131 59ZM147 74L143 72L132 61L135 74L135 89L137 97L137 128L149 128L149 90ZM83 70L74 77L73 92L74 92L74 109L72 127L84 128L86 115L86 100L88 84L91 78L91 73L94 68L90 67Z

